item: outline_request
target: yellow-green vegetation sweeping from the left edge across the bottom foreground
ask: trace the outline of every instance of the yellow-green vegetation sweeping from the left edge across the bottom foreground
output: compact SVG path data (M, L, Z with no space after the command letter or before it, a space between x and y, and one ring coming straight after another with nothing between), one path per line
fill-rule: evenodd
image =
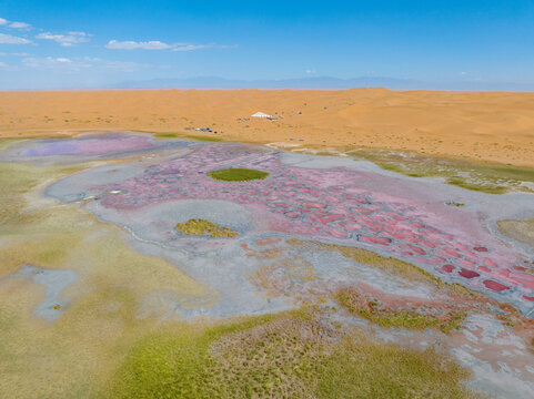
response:
M0 163L0 277L22 264L82 276L47 325L33 315L40 285L2 282L0 397L470 397L467 371L443 354L343 338L305 311L215 327L168 317L177 304L208 307L219 297L133 250L119 227L34 195L73 171Z

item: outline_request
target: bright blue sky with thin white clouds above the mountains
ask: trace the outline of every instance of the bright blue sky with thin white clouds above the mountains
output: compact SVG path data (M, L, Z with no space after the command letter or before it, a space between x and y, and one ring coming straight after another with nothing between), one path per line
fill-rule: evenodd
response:
M0 89L390 76L534 83L534 0L1 0Z

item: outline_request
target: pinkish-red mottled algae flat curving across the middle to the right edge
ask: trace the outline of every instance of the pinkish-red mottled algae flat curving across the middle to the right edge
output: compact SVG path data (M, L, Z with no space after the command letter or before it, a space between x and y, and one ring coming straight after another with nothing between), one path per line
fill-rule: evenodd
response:
M426 183L413 186L360 171L350 160L291 156L296 155L238 143L195 143L175 157L137 164L135 174L123 173L113 183L91 185L88 175L90 186L69 198L91 192L102 212L115 215L173 201L233 203L258 221L246 234L271 232L366 248L498 296L525 314L532 310L522 296L534 296L534 280L512 273L525 253L483 229L471 207L451 208ZM262 171L269 178L216 181L206 171Z

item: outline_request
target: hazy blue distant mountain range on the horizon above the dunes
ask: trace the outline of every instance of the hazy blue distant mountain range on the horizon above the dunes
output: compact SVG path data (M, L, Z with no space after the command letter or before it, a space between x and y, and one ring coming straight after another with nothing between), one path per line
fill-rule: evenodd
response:
M383 76L337 79L331 76L284 80L230 80L216 76L184 79L152 79L122 81L105 89L315 89L343 90L354 88L385 88L391 90L482 90L482 91L534 91L534 84L513 82L424 82Z

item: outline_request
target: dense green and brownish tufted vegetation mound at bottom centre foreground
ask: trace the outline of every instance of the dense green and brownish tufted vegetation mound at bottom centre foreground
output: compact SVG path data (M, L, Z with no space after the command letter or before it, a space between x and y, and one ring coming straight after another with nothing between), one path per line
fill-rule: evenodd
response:
M343 338L296 313L134 345L108 398L468 398L468 372L434 349Z

